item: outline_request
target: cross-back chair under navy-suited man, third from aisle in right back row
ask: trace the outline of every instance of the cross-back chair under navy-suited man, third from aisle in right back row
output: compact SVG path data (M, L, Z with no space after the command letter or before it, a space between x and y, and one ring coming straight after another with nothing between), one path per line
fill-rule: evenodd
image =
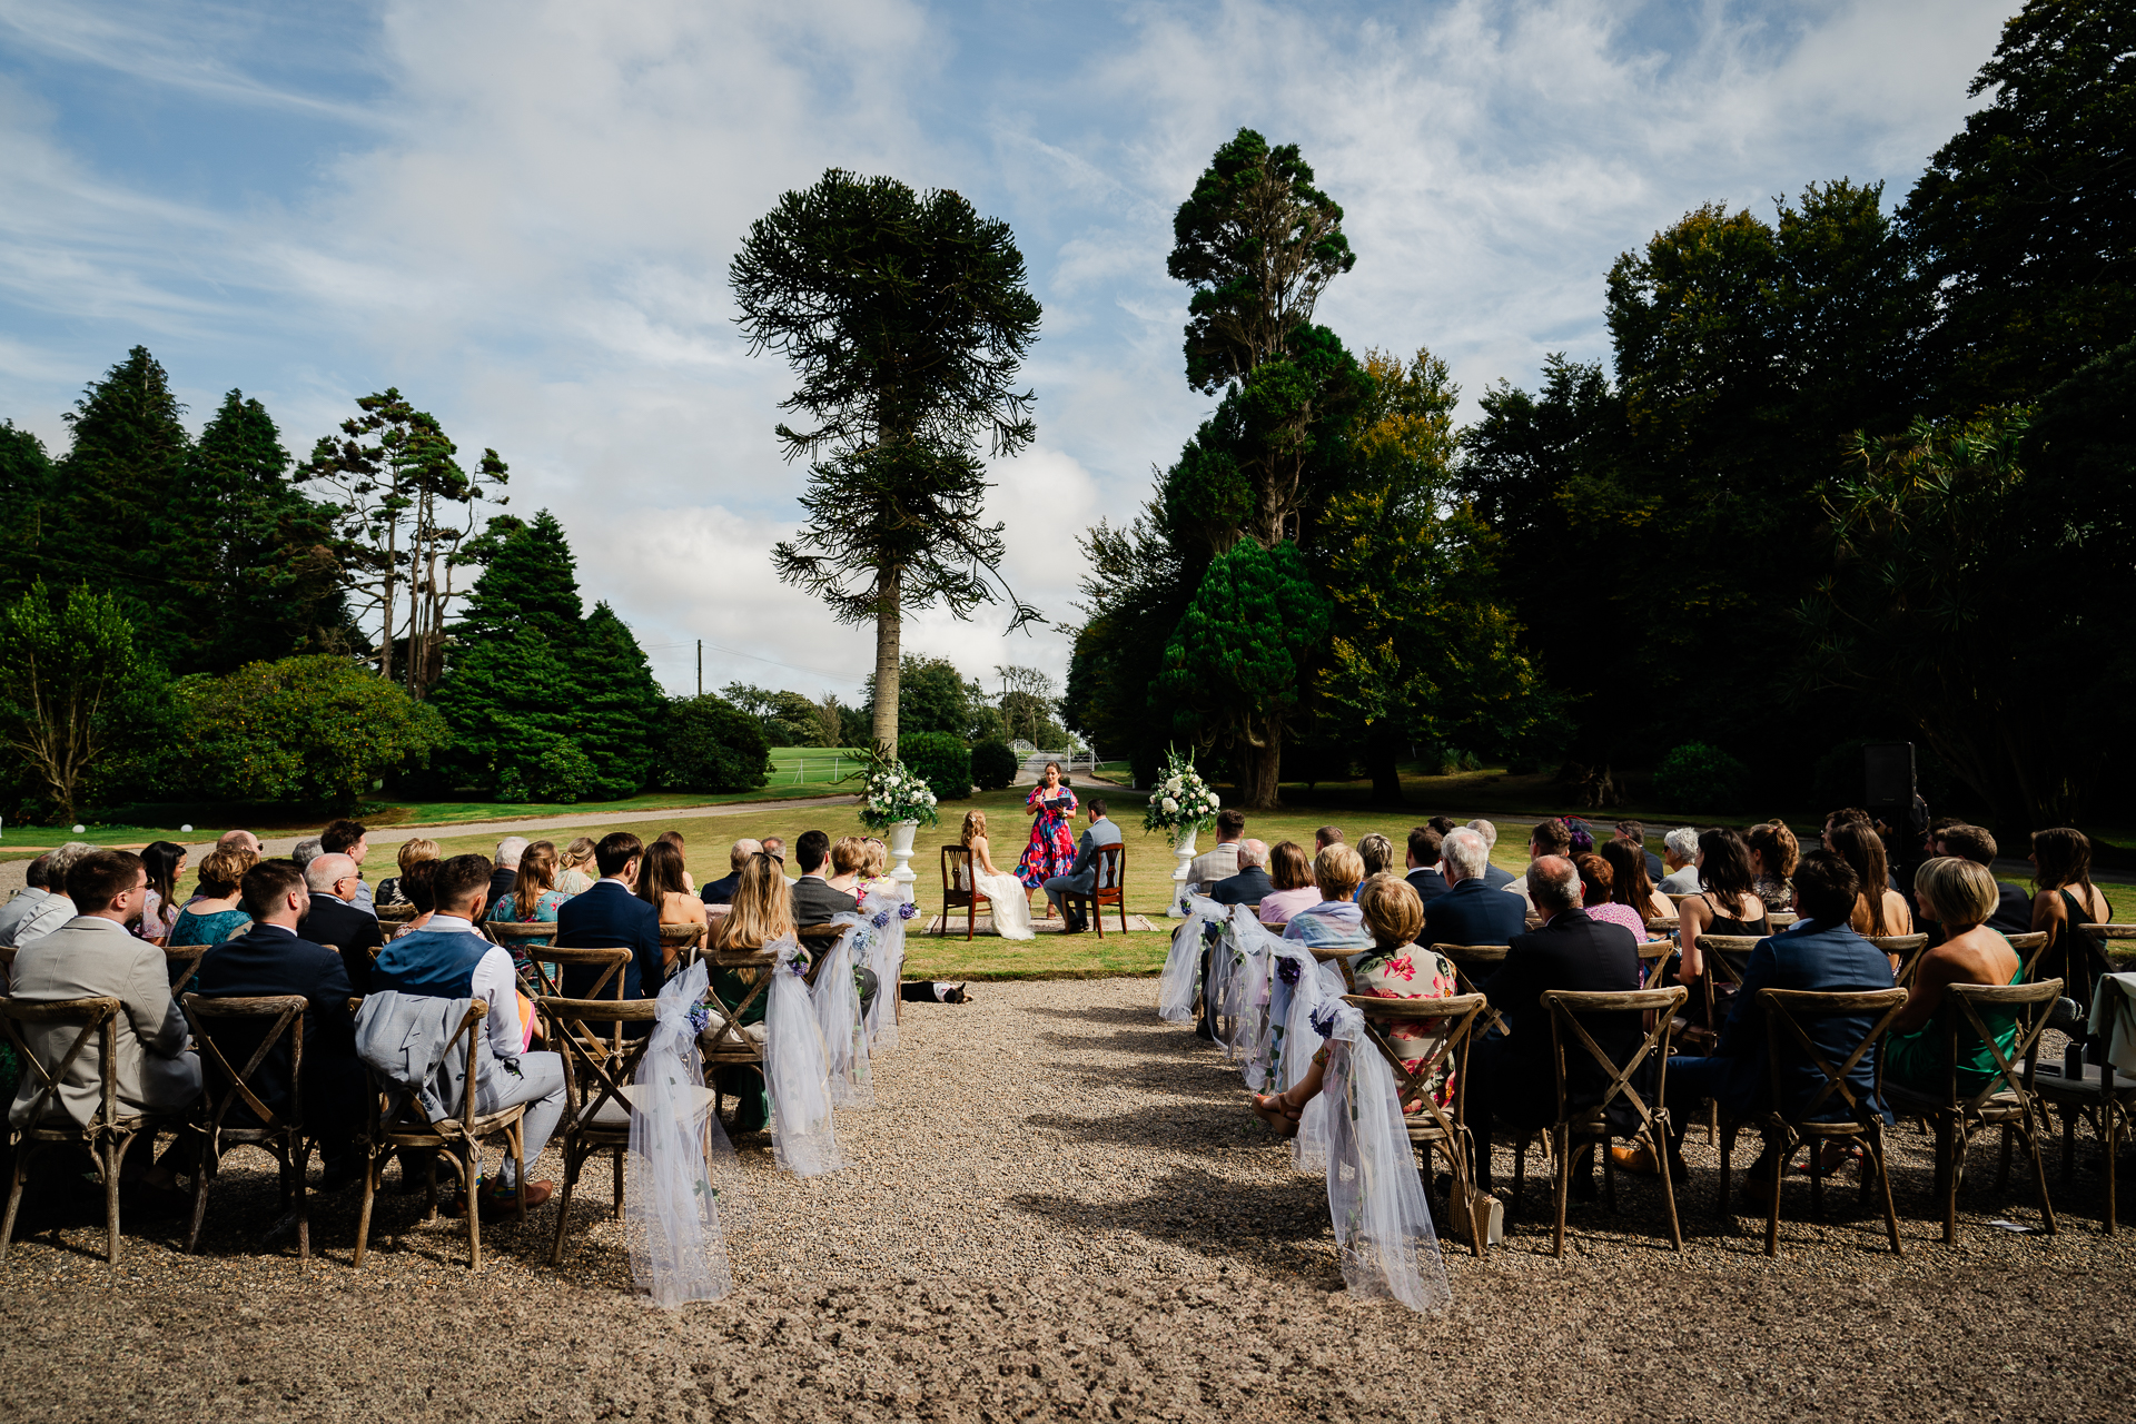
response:
M1890 1202L1890 1172L1884 1164L1884 1110L1873 1091L1856 1095L1854 1085L1848 1082L1848 1074L1852 1074L1854 1065L1863 1061L1863 1055L1882 1042L1884 1033L1890 1029L1890 1020L1905 1008L1905 991L1873 988L1867 993L1818 993L1811 988L1766 988L1758 995L1758 1001L1764 1008L1764 1057L1766 1072L1771 1074L1773 1099L1771 1108L1749 1123L1732 1119L1722 1121L1722 1215L1728 1215L1728 1161L1734 1155L1734 1140L1741 1127L1756 1125L1762 1132L1766 1151L1773 1157L1773 1181L1769 1183L1773 1196L1766 1204L1764 1219L1766 1255L1779 1253L1779 1189L1786 1183L1788 1159L1794 1157L1796 1144L1822 1149L1824 1142L1852 1140L1860 1144L1865 1157L1863 1198L1869 1196L1871 1185L1882 1189L1884 1230L1890 1234L1890 1253L1899 1255L1899 1213ZM1871 1025L1835 1067L1803 1029L1805 1020L1816 1018L1871 1018ZM1786 1099L1786 1074L1805 1059L1818 1070L1818 1074L1822 1074L1824 1082L1807 1104L1794 1112L1784 1112L1779 1104ZM1835 1097L1839 1102L1833 1102ZM1833 1108L1843 1108L1848 1117L1828 1123L1816 1121ZM1809 1153L1809 1213L1813 1217L1824 1213L1822 1157L1822 1151Z

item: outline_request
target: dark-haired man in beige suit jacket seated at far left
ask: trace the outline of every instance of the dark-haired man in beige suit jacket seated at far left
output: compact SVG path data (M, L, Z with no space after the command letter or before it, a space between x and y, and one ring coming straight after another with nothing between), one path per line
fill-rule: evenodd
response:
M145 897L141 856L124 850L77 856L66 867L64 899L81 914L15 952L11 993L17 1003L117 999L111 1044L117 1061L109 1067L117 1078L120 1112L175 1112L199 1099L201 1061L186 1048L186 1014L171 999L162 950L126 933L141 918ZM79 1027L26 1023L19 1031L41 1063L58 1067ZM105 1106L105 1070L103 1038L92 1033L58 1074L60 1093L47 1104L47 1117L88 1125ZM32 1125L36 1089L38 1078L26 1067L9 1110L11 1127ZM173 1185L164 1166L143 1181L162 1189Z

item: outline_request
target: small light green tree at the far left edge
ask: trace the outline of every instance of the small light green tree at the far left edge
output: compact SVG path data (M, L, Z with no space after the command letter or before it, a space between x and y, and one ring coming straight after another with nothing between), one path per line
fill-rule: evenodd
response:
M141 677L135 628L111 594L75 585L58 600L38 581L0 611L4 745L66 820L109 771L105 756L124 737L128 692Z

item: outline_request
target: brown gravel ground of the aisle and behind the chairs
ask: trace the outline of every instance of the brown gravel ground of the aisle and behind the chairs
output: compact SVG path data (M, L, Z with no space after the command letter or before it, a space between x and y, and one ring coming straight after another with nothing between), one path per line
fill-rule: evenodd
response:
M1153 980L989 984L906 1006L876 1106L839 1114L850 1166L792 1181L743 1140L754 1221L737 1292L658 1313L624 1294L590 1168L564 1270L555 1206L485 1230L387 1196L352 1270L355 1193L320 1202L314 1260L258 1245L263 1157L229 1159L197 1257L128 1225L111 1270L94 1200L47 1208L0 1268L6 1420L1884 1420L2130 1415L2132 1232L2098 1228L2095 1155L2063 1232L1974 1159L1961 1234L1929 1221L1918 1134L1897 1136L1905 1255L1852 1189L1781 1255L1713 1215L1696 1134L1681 1255L1651 1181L1574 1206L1549 1255L1532 1193L1487 1262L1448 1247L1438 1319L1341 1294L1326 1198L1245 1110L1232 1070L1151 1008ZM1741 1157L1739 1157L1741 1164ZM1499 1153L1510 1178L1510 1153ZM545 1176L555 1176L551 1155ZM2123 1208L2123 1215L2130 1215ZM117 1368L107 1375L107 1368Z

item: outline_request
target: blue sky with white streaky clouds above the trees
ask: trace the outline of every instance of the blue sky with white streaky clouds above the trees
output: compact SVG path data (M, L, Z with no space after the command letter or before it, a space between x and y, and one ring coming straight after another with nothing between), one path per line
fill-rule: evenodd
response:
M147 346L194 429L258 397L305 455L397 386L675 692L852 700L871 628L771 572L805 470L792 374L726 269L829 167L1006 220L1045 322L1038 440L993 463L1004 576L1053 619L906 619L993 683L1066 675L1077 536L1130 519L1213 408L1188 389L1171 213L1237 128L1299 143L1356 269L1318 320L1444 357L1463 410L1551 352L1608 359L1604 278L1700 203L1811 181L1897 205L1986 102L2016 0L0 0L0 418L66 448L83 384Z

